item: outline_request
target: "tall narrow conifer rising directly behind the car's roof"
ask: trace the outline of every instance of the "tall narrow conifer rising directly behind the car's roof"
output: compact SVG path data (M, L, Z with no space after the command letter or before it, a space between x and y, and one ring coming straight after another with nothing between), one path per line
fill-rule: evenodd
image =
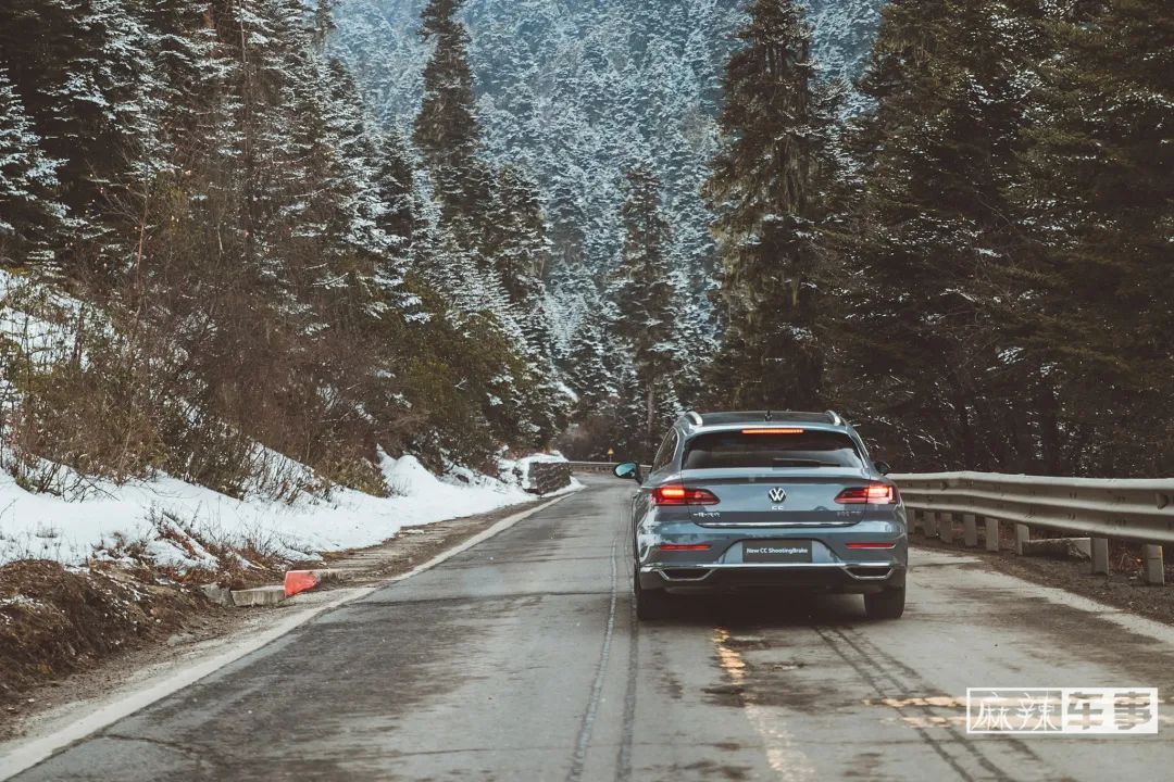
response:
M832 217L837 91L816 79L792 0L755 0L726 66L716 212L726 332L709 400L819 409L825 317L821 230Z

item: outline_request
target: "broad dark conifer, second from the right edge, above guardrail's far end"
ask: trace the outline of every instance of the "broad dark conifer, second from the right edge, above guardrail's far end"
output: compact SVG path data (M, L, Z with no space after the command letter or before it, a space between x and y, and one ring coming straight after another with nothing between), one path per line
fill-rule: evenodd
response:
M862 219L837 393L889 424L910 469L1032 463L1030 400L1046 389L1018 363L998 302L1023 287L1005 190L1038 13L1030 0L892 0L862 82L877 108L852 141Z

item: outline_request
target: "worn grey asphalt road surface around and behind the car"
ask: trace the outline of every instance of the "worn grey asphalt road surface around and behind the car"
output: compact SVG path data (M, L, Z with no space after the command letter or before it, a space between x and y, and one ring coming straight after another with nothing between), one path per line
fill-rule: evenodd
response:
M632 484L583 480L16 778L1169 778L1168 628L925 551L899 621L826 597L636 627ZM998 685L1159 687L1163 723L969 736L966 687Z

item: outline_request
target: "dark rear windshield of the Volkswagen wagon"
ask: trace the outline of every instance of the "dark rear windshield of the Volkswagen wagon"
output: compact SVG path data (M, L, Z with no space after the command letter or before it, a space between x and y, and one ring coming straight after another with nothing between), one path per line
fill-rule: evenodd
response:
M687 470L745 467L863 467L851 437L837 431L755 434L716 431L697 435L686 447Z

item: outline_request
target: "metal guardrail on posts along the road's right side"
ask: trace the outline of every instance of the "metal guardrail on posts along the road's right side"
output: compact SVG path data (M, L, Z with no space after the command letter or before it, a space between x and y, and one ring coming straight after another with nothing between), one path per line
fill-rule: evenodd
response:
M953 539L964 524L967 545L986 524L986 545L998 550L998 524L1014 524L1016 551L1041 528L1091 538L1094 573L1108 572L1108 539L1143 544L1145 576L1165 583L1162 544L1174 544L1174 480L1055 478L996 472L891 476L912 511L911 525Z

